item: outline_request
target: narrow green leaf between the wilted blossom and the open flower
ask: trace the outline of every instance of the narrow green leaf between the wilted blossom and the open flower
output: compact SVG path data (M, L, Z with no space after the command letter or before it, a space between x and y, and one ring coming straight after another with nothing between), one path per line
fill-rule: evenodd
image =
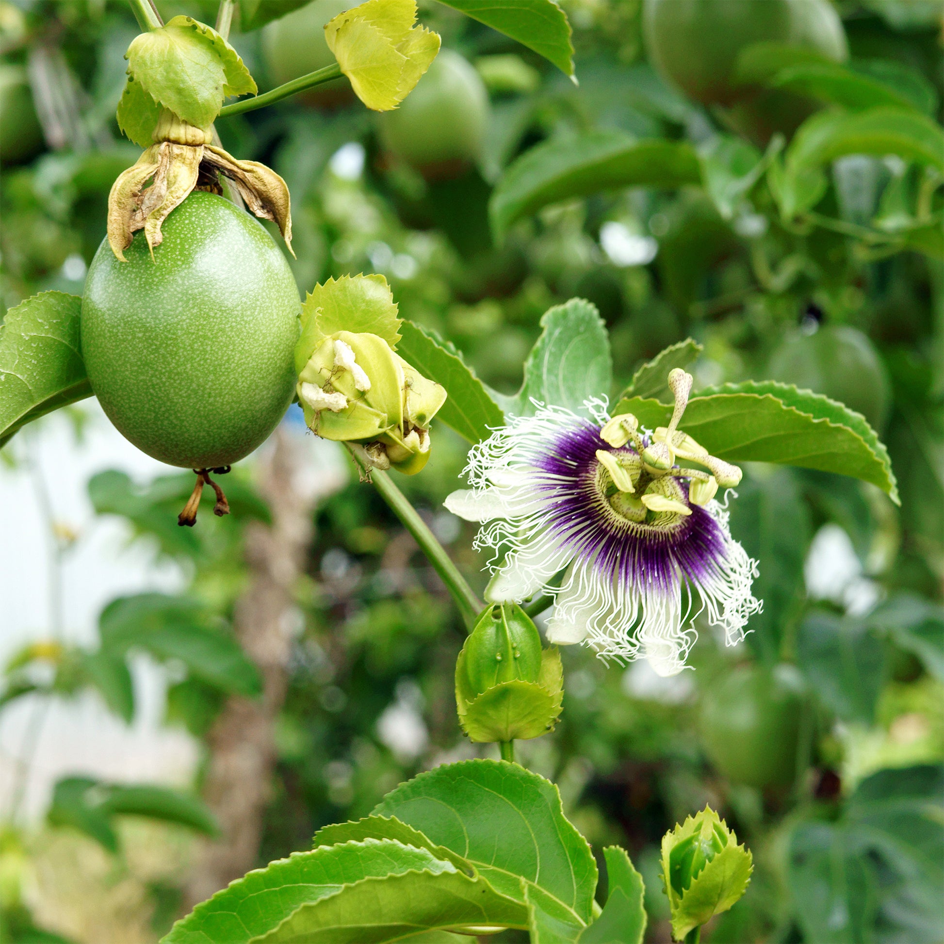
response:
M448 398L436 413L438 419L470 443L487 439L504 423L504 413L451 342L410 321L400 325L400 332L396 353L446 389Z

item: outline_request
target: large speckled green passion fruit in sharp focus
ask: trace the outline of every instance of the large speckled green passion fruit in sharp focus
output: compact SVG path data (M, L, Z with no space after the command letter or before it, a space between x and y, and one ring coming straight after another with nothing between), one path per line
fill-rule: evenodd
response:
M244 210L195 192L115 259L102 243L82 299L95 396L148 455L184 468L242 459L292 401L301 303L272 237Z

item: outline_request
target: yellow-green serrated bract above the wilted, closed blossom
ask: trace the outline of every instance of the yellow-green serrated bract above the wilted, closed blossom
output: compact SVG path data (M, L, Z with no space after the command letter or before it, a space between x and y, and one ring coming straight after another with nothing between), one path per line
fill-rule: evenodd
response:
M376 334L396 347L401 324L393 292L383 276L329 278L305 296L295 370L301 373L314 348L335 331Z

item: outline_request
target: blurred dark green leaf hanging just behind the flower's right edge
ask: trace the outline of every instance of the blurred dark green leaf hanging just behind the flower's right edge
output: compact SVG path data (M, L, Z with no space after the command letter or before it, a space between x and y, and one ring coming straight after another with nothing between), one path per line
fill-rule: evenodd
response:
M733 536L758 562L751 590L764 600L764 609L750 617L747 643L759 660L773 665L785 626L805 598L803 561L813 536L809 510L792 471L784 468L750 470L728 508Z

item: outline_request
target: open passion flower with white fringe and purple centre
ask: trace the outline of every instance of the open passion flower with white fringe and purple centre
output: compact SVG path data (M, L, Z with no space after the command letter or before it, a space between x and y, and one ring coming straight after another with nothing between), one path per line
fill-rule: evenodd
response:
M750 593L756 562L715 500L741 470L677 430L691 375L673 370L669 386L672 420L650 432L630 413L611 419L598 400L586 404L596 423L535 404L533 416L511 417L472 448L473 488L446 500L453 514L485 523L477 548L507 548L486 598L553 594L548 641L585 641L604 658L643 656L660 675L683 669L702 609L733 645L762 605ZM558 589L551 581L564 570Z

